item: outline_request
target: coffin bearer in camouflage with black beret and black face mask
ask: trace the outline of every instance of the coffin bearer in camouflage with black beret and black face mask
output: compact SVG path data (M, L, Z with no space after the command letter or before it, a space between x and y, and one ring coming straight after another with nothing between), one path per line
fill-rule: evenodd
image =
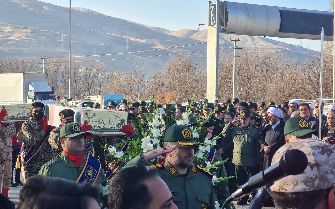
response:
M48 129L47 117L44 115L44 104L33 102L30 104L32 117L24 122L19 133L26 151L23 162L25 163L25 179L36 175L44 163L52 159L51 147L48 137L51 129Z

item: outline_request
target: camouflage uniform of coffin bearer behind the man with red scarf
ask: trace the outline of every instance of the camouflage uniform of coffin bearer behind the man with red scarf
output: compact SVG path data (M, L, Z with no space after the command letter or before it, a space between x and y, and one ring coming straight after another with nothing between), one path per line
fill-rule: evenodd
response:
M54 128L49 135L49 143L51 146L51 156L52 159L55 158L59 153L63 151L61 146L61 139L59 138L59 132L62 128L62 125L59 125L57 128ZM84 153L93 154L93 142L95 141L95 137L86 139L84 145Z

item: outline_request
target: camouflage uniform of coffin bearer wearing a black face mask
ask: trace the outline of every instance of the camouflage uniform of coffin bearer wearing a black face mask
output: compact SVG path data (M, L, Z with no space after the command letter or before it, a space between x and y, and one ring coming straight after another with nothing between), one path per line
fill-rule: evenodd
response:
M42 126L38 121L31 117L28 121L24 122L21 127L21 137L23 138L24 149L28 152L30 147L38 145L49 135L49 131L45 133ZM49 133L48 133L49 132ZM49 141L43 144L39 152L25 163L26 178L34 176L39 173L44 163L51 160L51 146Z

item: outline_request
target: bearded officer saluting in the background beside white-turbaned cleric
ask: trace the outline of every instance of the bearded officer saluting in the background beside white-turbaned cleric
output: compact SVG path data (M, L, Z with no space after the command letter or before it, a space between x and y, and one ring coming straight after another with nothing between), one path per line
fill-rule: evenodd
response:
M237 185L241 187L258 172L261 147L260 133L250 125L249 111L241 111L238 118L240 120L233 120L223 128L222 135L234 143L232 162L235 164ZM244 196L237 205L246 204L248 198Z

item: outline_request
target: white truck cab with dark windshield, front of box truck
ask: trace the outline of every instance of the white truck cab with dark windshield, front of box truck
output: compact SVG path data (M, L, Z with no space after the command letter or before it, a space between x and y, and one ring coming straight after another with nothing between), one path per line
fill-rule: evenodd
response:
M27 95L27 103L35 101L44 104L56 104L56 98L47 82L31 82Z

